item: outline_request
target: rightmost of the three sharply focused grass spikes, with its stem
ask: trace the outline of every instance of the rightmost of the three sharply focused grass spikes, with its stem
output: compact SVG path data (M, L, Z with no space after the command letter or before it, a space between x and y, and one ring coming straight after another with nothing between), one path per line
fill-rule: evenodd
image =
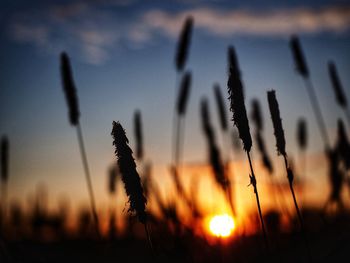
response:
M291 191L292 197L293 197L293 202L295 206L295 210L297 212L298 220L300 223L301 231L303 233L303 237L305 240L306 244L306 249L308 253L308 259L310 260L310 255L309 255L309 246L308 242L306 239L306 233L305 233L305 228L304 228L304 223L303 223L303 218L300 213L300 209L298 206L298 202L295 196L294 188L293 188L293 180L294 180L294 173L292 168L289 165L288 158L287 158L287 153L286 153L286 141L284 137L284 130L282 126L282 119L280 116L280 110L279 110L279 105L278 101L276 99L276 92L274 90L268 91L267 92L267 100L269 104L269 109L270 109L270 114L271 114L271 119L272 119L272 124L274 128L274 134L276 138L276 149L277 149L277 154L282 155L284 159L284 165L286 168L287 172L287 178L289 182L289 189Z

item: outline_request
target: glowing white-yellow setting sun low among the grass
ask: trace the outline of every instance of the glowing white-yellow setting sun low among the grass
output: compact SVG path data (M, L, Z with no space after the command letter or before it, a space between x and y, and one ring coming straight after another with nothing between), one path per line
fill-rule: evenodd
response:
M217 237L229 237L235 229L235 222L228 214L213 216L209 222L210 232Z

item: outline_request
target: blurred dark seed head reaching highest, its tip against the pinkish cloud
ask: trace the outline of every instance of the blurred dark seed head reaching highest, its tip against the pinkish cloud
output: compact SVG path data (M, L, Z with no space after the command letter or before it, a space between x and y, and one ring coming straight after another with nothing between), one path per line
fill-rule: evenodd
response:
M186 18L186 21L181 30L175 55L175 66L178 72L183 71L185 68L188 57L188 50L191 42L192 28L193 18L189 16Z

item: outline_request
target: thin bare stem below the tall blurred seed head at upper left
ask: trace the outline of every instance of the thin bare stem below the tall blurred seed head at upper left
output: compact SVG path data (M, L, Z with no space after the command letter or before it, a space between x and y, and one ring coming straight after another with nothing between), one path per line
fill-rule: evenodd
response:
M97 216L97 210L96 210L95 197L94 197L94 192L93 192L93 188L92 188L90 170L89 170L89 165L88 165L88 161L87 161L87 157L86 157L86 151L85 151L85 147L84 147L83 132L82 132L82 128L80 126L80 123L78 123L78 125L77 125L77 136L78 136L80 154L81 154L81 158L82 158L83 166L84 166L85 179L86 179L87 188L88 188L89 196L90 196L90 205L91 205L92 216L94 219L94 224L95 224L97 236L100 237L100 230L99 230L99 222L98 222L98 216Z

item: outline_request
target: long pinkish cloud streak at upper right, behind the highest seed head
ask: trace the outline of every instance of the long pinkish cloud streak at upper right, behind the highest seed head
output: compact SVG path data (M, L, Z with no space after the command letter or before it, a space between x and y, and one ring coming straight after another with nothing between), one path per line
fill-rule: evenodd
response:
M148 25L150 34L161 31L176 37L188 15L194 17L196 28L221 37L234 34L279 37L292 33L342 32L350 28L350 6L267 11L197 8L176 14L153 10L144 15L143 25Z

